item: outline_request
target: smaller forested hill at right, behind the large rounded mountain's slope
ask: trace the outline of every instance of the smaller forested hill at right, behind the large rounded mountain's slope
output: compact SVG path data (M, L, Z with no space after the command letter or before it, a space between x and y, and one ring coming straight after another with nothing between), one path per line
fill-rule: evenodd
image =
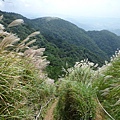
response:
M120 37L112 32L107 30L88 31L87 34L109 57L114 54L116 48L120 48Z

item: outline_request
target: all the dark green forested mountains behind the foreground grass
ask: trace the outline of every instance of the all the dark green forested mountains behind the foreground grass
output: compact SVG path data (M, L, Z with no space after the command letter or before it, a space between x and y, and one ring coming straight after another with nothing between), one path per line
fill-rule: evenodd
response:
M2 23L7 26L12 20L22 18L24 25L7 28L24 39L30 33L39 30L35 45L45 47L50 65L48 75L57 79L63 74L62 67L71 67L82 59L87 59L102 65L105 60L120 48L120 37L109 31L85 31L71 22L56 17L27 19L19 14L6 13ZM68 64L66 66L66 64Z

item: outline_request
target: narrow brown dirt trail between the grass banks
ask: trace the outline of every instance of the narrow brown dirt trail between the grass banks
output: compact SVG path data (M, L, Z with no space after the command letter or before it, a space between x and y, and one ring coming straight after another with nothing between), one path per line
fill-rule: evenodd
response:
M56 107L57 102L58 101L55 100L55 102L52 104L51 108L47 111L44 120L53 120L53 111L54 111L54 108Z

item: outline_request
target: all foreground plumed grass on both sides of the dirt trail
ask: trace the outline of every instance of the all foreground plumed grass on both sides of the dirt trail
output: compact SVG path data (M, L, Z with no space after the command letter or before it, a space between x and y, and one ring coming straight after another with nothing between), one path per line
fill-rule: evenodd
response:
M23 22L14 20L7 30L0 24L0 119L44 119L53 101L54 120L119 120L120 50L102 67L84 59L63 68L65 76L54 83L45 48L34 46L35 38L45 40L40 32L31 29L23 40L12 33Z

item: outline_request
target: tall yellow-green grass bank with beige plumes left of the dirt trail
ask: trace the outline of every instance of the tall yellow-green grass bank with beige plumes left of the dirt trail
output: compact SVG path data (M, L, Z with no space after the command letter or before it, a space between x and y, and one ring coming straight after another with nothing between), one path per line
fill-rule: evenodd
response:
M21 23L23 20L18 19L8 27ZM48 78L44 73L44 68L49 64L43 56L45 49L29 47L36 41L29 39L38 34L40 32L36 31L25 40L20 40L0 24L1 120L33 120L40 107L54 96L55 87L47 84Z

